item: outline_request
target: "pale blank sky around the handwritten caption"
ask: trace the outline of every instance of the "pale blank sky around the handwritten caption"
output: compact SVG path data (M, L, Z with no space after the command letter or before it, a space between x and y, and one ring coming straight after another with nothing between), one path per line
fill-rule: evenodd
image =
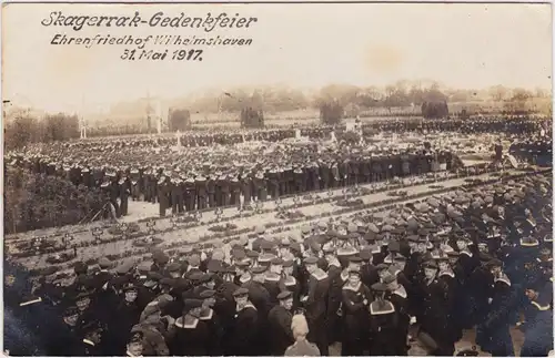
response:
M56 33L113 37L205 35L199 29L42 27L51 11L128 14L157 11L256 17L251 47L206 48L202 62L122 61L123 45L51 45ZM329 83L385 85L433 79L452 88L494 84L551 88L548 4L9 4L2 13L3 98L47 111L151 95L175 98L206 88ZM176 48L171 48L170 52Z

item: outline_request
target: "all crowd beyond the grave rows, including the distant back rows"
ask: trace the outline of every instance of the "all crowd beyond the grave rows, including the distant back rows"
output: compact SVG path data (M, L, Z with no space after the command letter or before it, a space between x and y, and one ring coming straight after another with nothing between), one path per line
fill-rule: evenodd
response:
M34 174L56 175L75 186L101 187L104 202L113 207L109 211L103 206L104 217L110 213L117 217L127 215L130 200L158 203L159 213L164 216L169 209L176 214L240 205L241 200L242 205L250 205L269 197L460 167L458 149L445 140L446 133L470 136L480 145L484 144L483 133L496 133L500 139L507 133L528 134L527 143L515 146L513 154L537 156L537 122L505 120L376 121L362 127L360 143L340 140L339 145L327 143L334 127L314 126L299 131L191 132L179 140L139 136L36 144L4 157L8 165ZM287 141L295 132L311 142L303 145ZM414 136L406 139L413 132L423 137L440 135L427 142L415 141ZM393 133L396 137L372 143L375 133ZM397 144L408 140L411 146ZM543 142L551 149L551 141ZM175 144L180 144L179 151ZM528 151L531 146L534 151Z

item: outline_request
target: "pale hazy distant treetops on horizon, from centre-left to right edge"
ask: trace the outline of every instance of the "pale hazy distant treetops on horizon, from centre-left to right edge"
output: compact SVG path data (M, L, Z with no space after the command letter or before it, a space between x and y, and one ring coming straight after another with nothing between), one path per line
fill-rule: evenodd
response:
M507 103L505 106L524 106L532 99L549 96L551 94L547 91L541 89L531 91L496 85L482 91L472 89L452 90L445 89L434 81L398 81L383 88L330 84L313 92L275 86L231 89L206 92L193 100L179 100L174 102L174 105L200 113L239 113L245 106L276 113L309 108L320 109L324 102L337 102L346 112L357 112L376 108L392 110L413 106L420 110L425 102L465 103L492 101ZM346 114L350 115L351 113Z

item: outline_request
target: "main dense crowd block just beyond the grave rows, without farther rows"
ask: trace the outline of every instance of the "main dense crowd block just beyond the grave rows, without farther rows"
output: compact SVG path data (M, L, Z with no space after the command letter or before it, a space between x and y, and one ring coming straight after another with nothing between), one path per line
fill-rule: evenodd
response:
M213 146L152 152L122 147L118 152L73 147L50 155L12 155L10 166L101 187L117 216L128 214L129 200L160 204L160 215L206 207L251 205L254 201L329 190L355 183L461 167L446 139L431 142L383 137L373 145L336 145L321 141L266 142L246 146ZM443 142L442 142L443 141ZM441 146L440 146L441 145ZM230 161L232 158L232 161ZM99 165L102 162L102 165ZM112 163L113 165L107 165Z

